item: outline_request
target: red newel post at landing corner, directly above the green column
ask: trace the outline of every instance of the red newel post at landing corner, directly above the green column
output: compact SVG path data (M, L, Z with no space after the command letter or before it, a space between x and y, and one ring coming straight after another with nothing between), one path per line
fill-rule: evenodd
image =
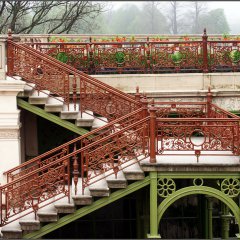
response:
M154 100L149 108L150 113L150 163L156 163L156 111Z

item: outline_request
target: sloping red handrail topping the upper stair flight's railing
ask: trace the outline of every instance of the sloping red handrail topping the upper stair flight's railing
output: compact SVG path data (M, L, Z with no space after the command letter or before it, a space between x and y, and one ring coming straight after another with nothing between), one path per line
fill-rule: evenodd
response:
M51 56L43 55L41 52L38 52L35 49L29 48L27 46L24 46L24 45L21 45L21 44L18 44L18 43L15 43L15 42L13 42L11 40L8 40L8 42L10 44L12 44L13 46L15 46L15 47L18 47L18 48L20 48L20 49L22 49L22 50L24 50L24 51L26 51L28 53L33 54L34 56L37 56L39 58L44 59L44 61L49 62L49 63L55 65L56 67L62 68L63 70L69 72L70 74L80 75L80 77L84 77L84 79L89 81L91 84L93 84L95 86L98 86L98 87L105 88L109 92L112 92L112 93L116 94L117 96L122 97L125 100L130 101L131 103L139 105L139 102L137 102L136 100L133 99L134 97L132 97L132 96L130 96L130 95L120 91L120 90L117 90L117 89L115 89L115 88L113 88L113 87L111 87L111 86L109 86L109 85L107 85L105 83L102 83L101 81L99 81L99 80L97 80L97 79L95 79L95 78L93 78L93 77L91 77L91 76L89 76L89 75L87 75L87 74L77 70L76 68L74 68L72 66L69 66L69 65L67 65L65 63L62 63L62 62L56 60L55 58L53 58Z

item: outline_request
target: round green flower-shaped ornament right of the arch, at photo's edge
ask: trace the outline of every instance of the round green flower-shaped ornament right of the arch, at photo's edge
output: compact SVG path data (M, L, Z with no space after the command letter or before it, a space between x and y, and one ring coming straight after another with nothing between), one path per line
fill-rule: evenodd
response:
M226 178L221 183L221 191L233 198L240 193L240 181L237 178Z

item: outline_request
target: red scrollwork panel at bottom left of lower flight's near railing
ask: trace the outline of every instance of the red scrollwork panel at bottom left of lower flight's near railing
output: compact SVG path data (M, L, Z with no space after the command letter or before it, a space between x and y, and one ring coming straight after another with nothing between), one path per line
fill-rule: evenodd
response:
M69 174L69 159L61 159L0 187L1 201L6 205L5 209L1 208L1 225L31 212L36 215L39 208L50 204L51 200L56 201L55 196L69 198Z

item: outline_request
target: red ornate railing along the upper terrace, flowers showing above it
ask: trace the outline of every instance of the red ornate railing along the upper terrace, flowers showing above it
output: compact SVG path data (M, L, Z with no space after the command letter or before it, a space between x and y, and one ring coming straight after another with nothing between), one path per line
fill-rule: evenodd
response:
M25 43L88 74L240 71L240 40Z

